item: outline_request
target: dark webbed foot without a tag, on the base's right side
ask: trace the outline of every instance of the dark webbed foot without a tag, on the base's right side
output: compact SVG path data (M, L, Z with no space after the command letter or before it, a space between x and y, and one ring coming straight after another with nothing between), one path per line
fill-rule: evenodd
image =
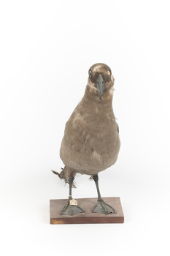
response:
M115 214L116 211L112 206L109 206L107 203L104 202L103 199L98 199L96 206L94 206L93 210L94 213L99 214Z

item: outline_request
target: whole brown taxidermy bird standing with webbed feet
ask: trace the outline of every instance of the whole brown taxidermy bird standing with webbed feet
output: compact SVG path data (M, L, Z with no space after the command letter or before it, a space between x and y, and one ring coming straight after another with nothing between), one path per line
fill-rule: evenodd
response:
M88 71L84 97L66 122L60 157L65 167L55 172L69 183L69 200L61 215L84 212L72 203L72 187L76 173L87 174L96 183L98 201L92 209L102 214L115 213L101 197L98 173L114 165L120 150L119 128L112 109L114 78L111 69L102 63Z

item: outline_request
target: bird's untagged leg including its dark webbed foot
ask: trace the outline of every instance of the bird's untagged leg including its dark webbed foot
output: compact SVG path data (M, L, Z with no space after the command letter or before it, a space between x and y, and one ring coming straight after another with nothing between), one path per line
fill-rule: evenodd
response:
M93 176L93 180L95 181L97 192L98 192L98 201L96 206L93 208L93 212L100 214L115 214L115 209L112 206L109 206L101 197L100 190L98 187L98 175Z

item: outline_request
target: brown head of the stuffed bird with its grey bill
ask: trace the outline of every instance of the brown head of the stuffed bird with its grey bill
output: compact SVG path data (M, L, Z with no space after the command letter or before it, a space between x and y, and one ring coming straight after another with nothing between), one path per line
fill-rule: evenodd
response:
M97 63L90 67L88 75L88 86L98 94L99 101L101 101L102 95L108 94L113 89L112 71L106 64Z

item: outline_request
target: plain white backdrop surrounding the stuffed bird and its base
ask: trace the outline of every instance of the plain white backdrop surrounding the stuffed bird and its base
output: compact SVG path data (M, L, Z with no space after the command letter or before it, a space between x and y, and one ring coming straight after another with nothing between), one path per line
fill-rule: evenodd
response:
M1 255L169 255L169 1L1 1ZM88 69L115 77L121 150L100 173L122 225L50 225L65 123ZM96 197L77 175L74 197Z

